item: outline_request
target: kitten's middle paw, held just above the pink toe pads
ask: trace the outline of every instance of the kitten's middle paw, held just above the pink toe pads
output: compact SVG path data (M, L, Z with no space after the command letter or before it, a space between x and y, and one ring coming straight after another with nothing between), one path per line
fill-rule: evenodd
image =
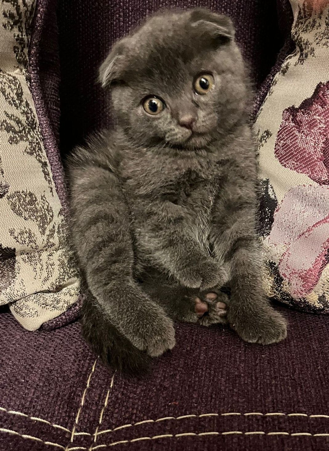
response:
M203 262L194 262L176 275L182 285L188 288L207 290L213 286L221 286L227 281L227 272L213 258Z

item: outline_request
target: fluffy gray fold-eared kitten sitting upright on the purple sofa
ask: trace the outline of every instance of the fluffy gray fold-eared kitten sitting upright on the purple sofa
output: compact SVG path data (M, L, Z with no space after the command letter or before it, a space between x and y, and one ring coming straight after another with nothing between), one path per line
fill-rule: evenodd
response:
M196 297L222 300L223 285L227 315L208 302L202 323L228 322L251 343L285 338L262 288L250 92L230 19L154 15L113 46L100 81L116 126L69 163L93 349L139 372L175 345L172 320L197 322Z

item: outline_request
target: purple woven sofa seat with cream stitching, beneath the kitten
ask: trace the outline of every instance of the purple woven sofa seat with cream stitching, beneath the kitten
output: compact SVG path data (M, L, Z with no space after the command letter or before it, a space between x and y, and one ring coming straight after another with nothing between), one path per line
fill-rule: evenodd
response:
M267 347L178 324L142 380L104 368L78 323L28 332L2 313L0 450L326 450L329 318L283 312Z

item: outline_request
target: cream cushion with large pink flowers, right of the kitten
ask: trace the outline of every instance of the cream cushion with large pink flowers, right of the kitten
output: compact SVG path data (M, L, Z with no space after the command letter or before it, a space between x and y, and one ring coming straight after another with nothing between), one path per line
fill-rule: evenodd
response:
M296 50L255 121L268 295L329 312L329 2L291 0Z

